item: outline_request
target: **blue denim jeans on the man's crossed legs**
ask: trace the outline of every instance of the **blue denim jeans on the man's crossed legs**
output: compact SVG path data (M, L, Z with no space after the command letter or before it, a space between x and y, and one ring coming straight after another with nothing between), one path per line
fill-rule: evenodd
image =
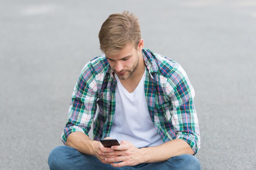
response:
M193 155L171 157L163 162L141 163L136 166L112 167L97 157L85 155L69 146L58 146L49 155L50 170L200 170L198 159Z

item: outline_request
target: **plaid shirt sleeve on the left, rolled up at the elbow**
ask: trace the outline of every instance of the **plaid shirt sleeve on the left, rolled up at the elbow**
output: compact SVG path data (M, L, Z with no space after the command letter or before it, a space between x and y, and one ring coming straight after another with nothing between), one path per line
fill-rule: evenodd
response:
M61 135L64 144L72 132L79 131L88 135L90 131L97 109L97 83L94 78L94 69L89 62L83 68L74 87L68 120Z

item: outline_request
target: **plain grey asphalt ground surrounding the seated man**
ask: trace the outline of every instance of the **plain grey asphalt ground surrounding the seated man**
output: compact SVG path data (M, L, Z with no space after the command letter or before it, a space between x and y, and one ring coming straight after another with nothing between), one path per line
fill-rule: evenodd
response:
M0 170L49 169L100 26L124 10L189 75L202 170L255 170L255 0L0 0Z

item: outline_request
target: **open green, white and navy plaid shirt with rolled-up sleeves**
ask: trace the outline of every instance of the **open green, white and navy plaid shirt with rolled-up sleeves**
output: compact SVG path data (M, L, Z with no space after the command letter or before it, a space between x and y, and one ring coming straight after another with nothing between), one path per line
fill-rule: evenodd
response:
M145 96L149 114L164 142L183 139L196 153L200 148L195 91L183 68L169 58L143 49L146 66ZM115 115L117 80L104 55L88 62L72 94L68 121L62 133L80 131L88 135L94 117L94 140L110 135ZM135 120L136 121L136 120Z

